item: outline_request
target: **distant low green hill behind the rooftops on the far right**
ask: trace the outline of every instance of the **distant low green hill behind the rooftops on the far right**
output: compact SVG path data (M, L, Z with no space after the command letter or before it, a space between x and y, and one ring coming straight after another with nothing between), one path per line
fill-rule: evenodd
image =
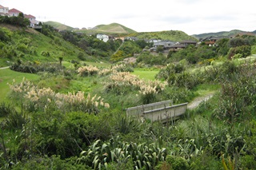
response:
M209 38L209 37L214 37L214 38L229 38L230 36L234 36L236 34L240 33L247 33L246 31L242 30L230 30L230 31L221 31L217 33L205 33L205 34L194 34L192 37L200 39L200 38ZM255 34L254 32L251 32Z

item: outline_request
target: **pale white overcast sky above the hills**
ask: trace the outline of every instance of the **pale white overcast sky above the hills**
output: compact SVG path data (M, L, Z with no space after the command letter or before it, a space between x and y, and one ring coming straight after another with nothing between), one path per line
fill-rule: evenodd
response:
M137 32L182 30L203 34L256 30L255 0L0 0L38 21L72 27L119 23Z

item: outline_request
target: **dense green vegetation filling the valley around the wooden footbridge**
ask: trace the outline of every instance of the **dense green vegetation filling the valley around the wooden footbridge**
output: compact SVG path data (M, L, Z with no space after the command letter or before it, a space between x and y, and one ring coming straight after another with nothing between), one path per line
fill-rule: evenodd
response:
M9 58L1 51L2 61L11 59L10 69L38 77L9 82L8 99L0 104L2 169L256 168L256 60L248 57L255 37L189 45L166 56L142 53L144 42L105 43L50 26L42 34L1 30L1 50L16 53ZM90 64L122 61L118 53L139 54L133 64ZM155 78L146 79L152 73ZM214 96L166 125L124 111L205 94Z

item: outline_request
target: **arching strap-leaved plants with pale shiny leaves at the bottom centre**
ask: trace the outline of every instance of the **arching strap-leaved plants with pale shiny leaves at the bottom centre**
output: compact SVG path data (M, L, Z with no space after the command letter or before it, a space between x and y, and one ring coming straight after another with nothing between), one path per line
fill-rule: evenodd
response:
M165 158L166 148L158 148L156 144L117 142L111 139L106 143L96 140L88 150L81 152L78 162L99 169L108 168L111 162L129 162L131 159L136 169L154 169L155 165Z

